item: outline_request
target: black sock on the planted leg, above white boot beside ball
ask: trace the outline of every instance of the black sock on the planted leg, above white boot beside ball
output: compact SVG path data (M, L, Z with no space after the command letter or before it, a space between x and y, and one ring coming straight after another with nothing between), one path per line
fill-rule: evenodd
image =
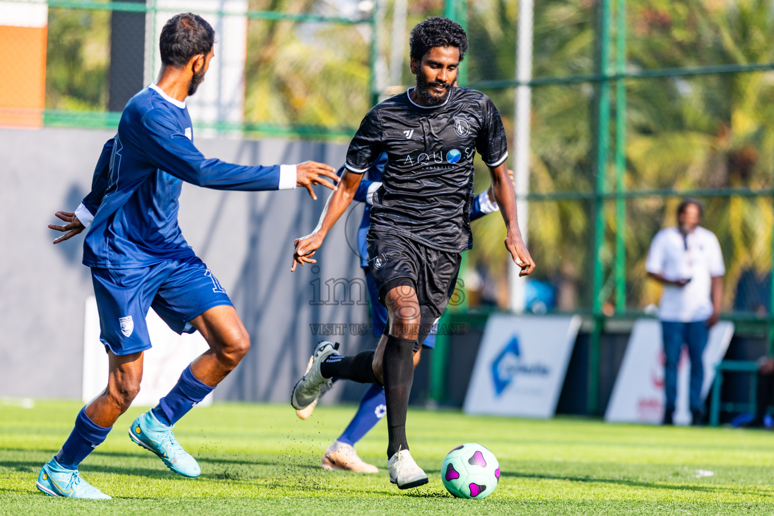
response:
M387 458L401 449L409 449L406 440L406 411L414 381L414 344L416 340L387 337L382 374L387 398Z

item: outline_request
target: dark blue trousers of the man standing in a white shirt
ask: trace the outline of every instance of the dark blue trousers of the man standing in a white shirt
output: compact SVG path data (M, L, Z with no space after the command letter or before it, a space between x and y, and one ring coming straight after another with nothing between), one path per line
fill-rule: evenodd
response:
M673 412L677 398L677 363L683 344L688 347L690 357L690 409L703 412L701 404L701 384L704 381L704 364L701 361L704 348L707 347L709 329L704 321L696 323L673 323L661 321L663 331L664 355L664 393L666 411Z

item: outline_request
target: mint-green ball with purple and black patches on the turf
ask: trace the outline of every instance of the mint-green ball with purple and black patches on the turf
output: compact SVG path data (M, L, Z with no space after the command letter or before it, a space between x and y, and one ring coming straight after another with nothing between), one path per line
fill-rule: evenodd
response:
M488 497L500 480L495 454L476 443L464 443L451 450L440 470L444 486L455 497Z

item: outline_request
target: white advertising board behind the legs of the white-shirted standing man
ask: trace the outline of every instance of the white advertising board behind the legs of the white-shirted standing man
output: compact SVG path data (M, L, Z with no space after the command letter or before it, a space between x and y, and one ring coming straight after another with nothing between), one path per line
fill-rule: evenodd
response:
M701 386L703 400L707 398L714 380L715 366L723 360L733 335L734 323L728 321L717 323L710 330L707 347L704 349L704 382ZM673 415L676 425L690 424L689 379L688 350L683 347L677 364L677 399ZM632 328L632 336L629 337L604 420L657 425L662 422L665 402L661 321L640 319Z

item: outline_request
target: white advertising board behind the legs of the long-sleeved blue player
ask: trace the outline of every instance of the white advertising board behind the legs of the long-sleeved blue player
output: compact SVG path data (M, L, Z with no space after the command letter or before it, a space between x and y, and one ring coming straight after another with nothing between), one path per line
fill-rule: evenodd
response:
M201 333L178 335L152 309L146 317L152 348L143 356L140 392L132 405L149 406L159 403L180 378L180 373L194 358L210 347ZM108 384L108 354L99 340L99 313L94 296L86 299L84 329L84 403L90 402ZM198 405L211 405L212 393Z

